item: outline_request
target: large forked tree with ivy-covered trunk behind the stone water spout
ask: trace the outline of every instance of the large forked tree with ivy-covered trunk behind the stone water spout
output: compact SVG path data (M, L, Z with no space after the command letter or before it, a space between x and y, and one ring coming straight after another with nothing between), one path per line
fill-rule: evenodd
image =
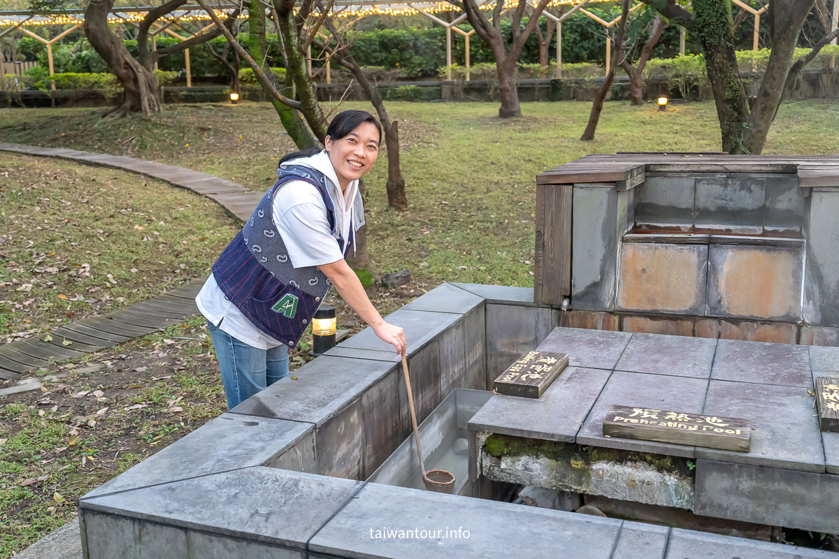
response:
M785 84L790 76L795 80L804 66L794 67L792 58L814 0L773 0L769 4L772 52L751 107L737 70L729 0L694 0L693 13L675 0L643 2L669 18L670 23L682 25L699 37L717 106L722 149L729 153L760 153L783 100Z

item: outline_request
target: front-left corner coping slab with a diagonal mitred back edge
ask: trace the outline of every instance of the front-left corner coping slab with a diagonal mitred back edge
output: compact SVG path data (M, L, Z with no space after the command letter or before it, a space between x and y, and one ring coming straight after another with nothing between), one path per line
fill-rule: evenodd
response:
M306 542L360 486L350 479L257 467L102 495L80 506L82 512L305 551Z

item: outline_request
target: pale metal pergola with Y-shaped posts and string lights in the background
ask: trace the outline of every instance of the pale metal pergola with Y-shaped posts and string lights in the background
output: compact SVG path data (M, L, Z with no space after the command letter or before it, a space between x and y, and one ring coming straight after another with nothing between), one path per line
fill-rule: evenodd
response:
M620 21L620 17L612 19L612 21L606 21L602 18L599 18L596 14L591 13L590 11L586 10L586 5L594 4L594 3L602 3L607 2L609 0L554 0L548 4L549 8L562 6L565 8L561 15L556 16L553 13L550 13L547 9L543 14L546 18L550 18L552 21L556 23L556 75L557 77L561 77L562 72L562 22L565 18L568 18L573 13L583 13L589 18L593 19L597 23L600 23L604 28L611 28L616 23ZM634 0L634 5L631 8L631 11L634 11L644 5L637 0ZM748 3L743 2L742 0L732 0L733 3L737 4L743 10L746 10L748 13L751 13L754 16L754 35L753 35L753 49L758 49L758 29L760 27L760 16L762 13L766 12L769 8L769 3L763 4L761 8L752 8ZM536 5L536 0L528 0L528 3L532 6ZM491 9L492 0L487 0L481 8L482 9ZM505 4L504 10L502 12L506 13L510 8L513 8L517 3L515 0L508 0ZM129 28L137 27L139 22L143 20L149 10L154 7L150 6L140 6L135 8L113 8L110 16L108 18L109 23L113 25L122 26L122 28L128 31ZM232 4L222 4L220 6L216 6L216 13L221 17L231 13L237 6ZM462 23L466 20L466 13L460 13L456 17L451 18L451 21L445 21L444 19L438 17L438 14L443 12L461 12L460 8L456 5L448 2L394 2L393 0L336 0L331 8L332 15L338 18L361 18L367 15L373 14L383 14L383 15L391 15L391 16L399 16L399 15L416 15L422 14L426 18L429 18L431 21L443 26L446 28L446 66L451 69L452 63L452 43L453 43L453 34L461 34L464 37L466 43L466 56L465 56L465 67L466 67L466 80L469 80L469 68L470 68L470 60L469 60L469 39L472 34L475 34L475 30L472 29L471 31L464 31L461 28L458 28L457 25ZM266 13L268 18L271 18L272 15L270 11ZM245 9L238 18L247 18L247 9ZM836 21L839 20L839 0L834 0L833 2L833 26L836 28ZM197 31L188 30L185 28L183 23L186 22L209 22L206 26L199 28ZM84 23L84 10L81 8L78 9L68 9L62 10L60 12L51 13L50 15L33 15L28 12L13 12L13 11L0 11L0 39L5 37L8 34L11 34L15 31L19 33L28 35L33 39L39 40L41 43L46 45L47 48L47 60L50 66L50 75L53 75L53 56L52 56L52 45L63 39L67 34L70 34L76 28L79 28L81 24ZM55 37L51 39L44 39L39 34L34 32L34 28L39 28L43 26L60 26L64 27L65 29ZM67 27L69 26L69 27ZM154 25L152 26L151 31L149 34L152 37L152 48L156 49L156 38L159 34L168 34L175 39L179 39L180 41L184 41L186 39L190 39L192 37L201 35L209 31L213 28L213 23L211 23L211 18L209 14L207 14L200 6L190 6L186 5L183 8L169 13L164 18L159 19ZM833 40L832 44L836 44L836 39ZM612 53L612 40L608 37L606 38L606 71L608 72L609 66L611 65L611 53ZM186 70L186 85L190 87L192 85L192 79L190 75L190 51L189 49L185 49L185 70ZM680 40L680 53L685 53L685 29L681 28L681 40ZM309 58L309 68L311 70L311 53L308 53ZM2 66L0 66L2 67ZM447 80L451 80L451 70L449 70L448 75L446 76ZM331 75L330 75L330 67L329 62L327 60L326 64L326 82L331 82ZM5 80L0 80L0 83L3 84L5 87ZM55 89L55 84L53 84L53 88Z

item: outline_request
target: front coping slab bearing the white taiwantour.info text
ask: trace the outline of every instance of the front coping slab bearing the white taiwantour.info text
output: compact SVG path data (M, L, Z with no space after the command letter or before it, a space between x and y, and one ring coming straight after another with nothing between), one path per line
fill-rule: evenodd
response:
M521 556L525 551L528 557L607 559L620 527L620 520L368 483L311 539L309 549L353 559ZM399 530L420 534L400 538ZM424 530L434 533L421 537ZM387 537L384 531L397 532Z

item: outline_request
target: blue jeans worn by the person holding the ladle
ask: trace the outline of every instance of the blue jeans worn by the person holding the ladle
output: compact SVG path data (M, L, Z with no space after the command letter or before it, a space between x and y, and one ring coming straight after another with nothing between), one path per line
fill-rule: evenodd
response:
M289 349L284 345L257 349L207 322L216 348L227 409L271 386L289 374Z

